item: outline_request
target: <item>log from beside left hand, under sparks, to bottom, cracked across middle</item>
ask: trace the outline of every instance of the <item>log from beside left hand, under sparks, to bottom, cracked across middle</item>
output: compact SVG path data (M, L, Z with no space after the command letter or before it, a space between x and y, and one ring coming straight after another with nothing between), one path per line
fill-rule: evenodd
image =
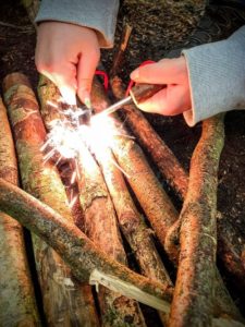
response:
M46 126L51 129L53 119L64 119L60 93L53 83L41 76L38 94L41 102L41 114ZM108 255L111 255L122 264L126 264L126 257L121 244L117 228L117 217L113 205L99 167L89 154L88 149L81 144L81 158L77 168L79 198L83 209L83 231L98 244ZM97 191L100 193L98 196ZM131 322L134 326L145 326L144 317L135 301L125 299L120 293L99 288L100 314L103 326L121 326Z

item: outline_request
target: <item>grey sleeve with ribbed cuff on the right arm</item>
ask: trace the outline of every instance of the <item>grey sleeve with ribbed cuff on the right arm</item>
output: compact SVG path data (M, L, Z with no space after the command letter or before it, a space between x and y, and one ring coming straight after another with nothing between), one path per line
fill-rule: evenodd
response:
M187 62L192 109L189 126L232 109L245 109L245 26L226 40L182 52Z

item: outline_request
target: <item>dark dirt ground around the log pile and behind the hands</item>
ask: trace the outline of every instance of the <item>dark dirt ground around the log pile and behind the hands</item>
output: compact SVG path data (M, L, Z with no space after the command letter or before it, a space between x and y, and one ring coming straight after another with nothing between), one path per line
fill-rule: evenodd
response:
M115 45L122 22L133 26L133 34L121 72L124 81L130 72L144 60L159 60L180 44L197 25L204 13L203 1L134 1L125 0L119 13ZM38 74L34 64L35 29L25 10L17 1L0 4L0 80L11 72L23 72L35 88ZM115 47L117 48L117 47ZM114 50L102 50L102 62L110 69ZM231 82L232 83L232 82ZM188 169L189 159L200 134L200 124L189 129L182 117L147 118L173 150L181 164ZM230 221L241 240L245 239L245 111L232 111L225 118L225 145L219 171L218 209ZM222 268L222 267L221 267ZM228 287L237 304L245 312L243 290L223 271Z

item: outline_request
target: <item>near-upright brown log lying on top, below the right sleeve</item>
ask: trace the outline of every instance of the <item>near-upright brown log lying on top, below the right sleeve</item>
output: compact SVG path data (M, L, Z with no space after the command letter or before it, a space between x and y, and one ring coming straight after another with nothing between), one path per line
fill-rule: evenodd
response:
M188 192L181 213L181 252L170 323L211 326L216 272L217 173L223 147L220 117L203 123L191 161Z

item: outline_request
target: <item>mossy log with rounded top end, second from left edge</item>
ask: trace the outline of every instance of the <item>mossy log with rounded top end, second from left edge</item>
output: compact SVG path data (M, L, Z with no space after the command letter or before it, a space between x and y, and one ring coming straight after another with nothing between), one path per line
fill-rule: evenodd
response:
M58 171L52 164L44 164L40 147L46 131L27 78L19 73L11 74L5 77L3 88L23 187L72 221ZM73 278L70 268L46 242L33 234L33 244L49 326L97 326L94 303L87 288Z

